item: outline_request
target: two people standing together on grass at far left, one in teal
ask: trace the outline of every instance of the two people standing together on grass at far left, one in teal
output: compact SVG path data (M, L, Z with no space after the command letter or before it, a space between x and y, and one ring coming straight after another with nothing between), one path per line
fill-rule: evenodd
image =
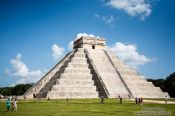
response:
M17 99L12 98L10 100L10 98L8 98L6 100L6 107L7 107L7 112L10 111L10 108L11 108L12 111L16 112L17 111Z

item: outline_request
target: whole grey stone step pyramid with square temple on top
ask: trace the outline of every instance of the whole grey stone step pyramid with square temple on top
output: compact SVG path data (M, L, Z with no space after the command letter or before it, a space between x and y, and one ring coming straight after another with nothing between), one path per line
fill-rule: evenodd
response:
M25 98L164 98L144 76L106 49L102 38L81 37L68 53L26 93Z

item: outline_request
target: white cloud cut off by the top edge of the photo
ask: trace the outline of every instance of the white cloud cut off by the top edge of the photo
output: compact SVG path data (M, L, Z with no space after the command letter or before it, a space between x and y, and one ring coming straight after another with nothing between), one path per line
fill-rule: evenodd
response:
M110 0L107 5L124 10L130 16L140 16L141 20L151 14L151 5L145 0Z

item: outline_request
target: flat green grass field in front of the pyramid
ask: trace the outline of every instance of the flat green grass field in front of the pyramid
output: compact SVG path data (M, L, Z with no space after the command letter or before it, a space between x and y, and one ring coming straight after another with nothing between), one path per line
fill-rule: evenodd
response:
M143 114L142 114L143 113ZM116 99L71 99L66 100L30 100L18 101L17 112L6 112L4 102L0 102L0 116L174 116L175 104L144 103L136 105L134 101ZM151 116L151 115L149 115Z

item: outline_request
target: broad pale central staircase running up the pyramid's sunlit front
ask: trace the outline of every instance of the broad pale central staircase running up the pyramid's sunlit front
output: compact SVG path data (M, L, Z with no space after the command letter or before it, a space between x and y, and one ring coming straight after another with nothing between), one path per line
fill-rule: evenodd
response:
M102 49L87 49L86 52L89 54L92 62L94 63L97 71L99 72L104 85L106 86L110 98L115 98L119 94L123 97L129 95L129 92L123 84L121 78L116 72L115 68L111 65L108 57Z

